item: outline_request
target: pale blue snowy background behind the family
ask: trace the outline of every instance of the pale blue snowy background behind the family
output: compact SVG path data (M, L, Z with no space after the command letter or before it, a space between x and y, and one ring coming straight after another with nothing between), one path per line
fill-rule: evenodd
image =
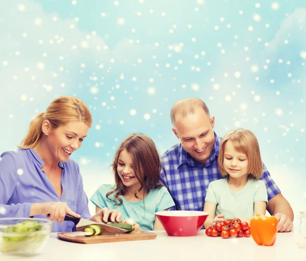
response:
M125 136L147 134L163 153L179 142L171 106L198 97L219 136L256 134L294 213L306 210L306 2L20 0L0 10L1 152L55 97L83 99L93 125L72 158L90 197L113 182Z

